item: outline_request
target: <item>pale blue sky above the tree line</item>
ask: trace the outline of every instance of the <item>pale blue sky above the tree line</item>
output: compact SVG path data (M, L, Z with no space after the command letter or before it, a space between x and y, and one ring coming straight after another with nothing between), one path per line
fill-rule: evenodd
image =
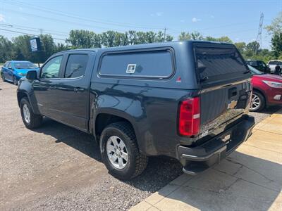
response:
M255 41L259 18L263 25L282 11L282 0L0 0L0 34L51 34L63 42L70 30L164 31L228 36L234 42ZM8 30L8 31L7 31ZM12 32L13 31L13 32ZM271 36L262 29L262 48L270 49Z

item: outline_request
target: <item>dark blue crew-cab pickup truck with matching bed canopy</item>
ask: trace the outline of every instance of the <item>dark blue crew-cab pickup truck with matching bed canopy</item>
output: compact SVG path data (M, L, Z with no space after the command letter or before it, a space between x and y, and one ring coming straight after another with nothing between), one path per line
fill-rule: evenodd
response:
M137 177L156 155L197 174L250 136L250 76L235 46L221 42L78 49L27 72L17 96L28 129L49 117L92 134L118 179Z

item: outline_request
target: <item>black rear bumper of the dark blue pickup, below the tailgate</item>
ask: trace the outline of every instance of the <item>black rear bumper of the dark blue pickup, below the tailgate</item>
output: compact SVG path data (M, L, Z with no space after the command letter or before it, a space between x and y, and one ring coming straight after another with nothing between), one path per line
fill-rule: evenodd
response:
M183 165L183 171L194 175L207 170L223 158L226 158L228 154L235 151L241 143L247 140L254 126L255 118L246 116L243 121L201 146L193 148L178 146L178 158Z

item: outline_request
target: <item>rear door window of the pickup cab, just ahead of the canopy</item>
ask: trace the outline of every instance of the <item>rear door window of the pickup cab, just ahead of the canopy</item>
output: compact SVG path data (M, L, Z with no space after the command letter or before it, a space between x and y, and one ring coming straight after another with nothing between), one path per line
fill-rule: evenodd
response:
M86 54L71 54L68 56L66 65L65 77L80 77L85 74L87 67L88 55Z

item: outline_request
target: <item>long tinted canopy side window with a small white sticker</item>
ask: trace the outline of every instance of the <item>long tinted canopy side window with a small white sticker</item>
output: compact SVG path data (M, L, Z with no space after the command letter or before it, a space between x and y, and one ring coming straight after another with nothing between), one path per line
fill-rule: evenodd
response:
M171 51L109 53L102 57L99 74L120 77L164 78L173 74Z

